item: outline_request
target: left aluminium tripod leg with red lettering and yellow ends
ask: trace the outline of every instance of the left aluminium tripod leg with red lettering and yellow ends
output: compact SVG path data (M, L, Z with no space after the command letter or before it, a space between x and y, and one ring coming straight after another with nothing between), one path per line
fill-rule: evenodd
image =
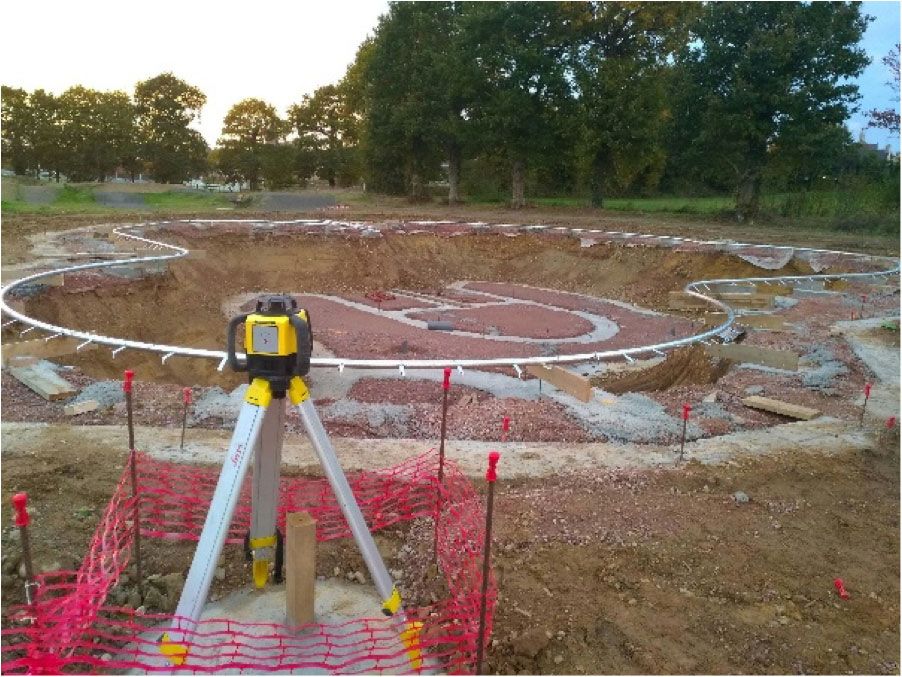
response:
M255 378L247 389L244 404L238 414L238 422L235 424L235 432L232 434L229 451L223 462L222 473L213 492L210 510L194 552L194 559L191 561L191 568L188 570L182 596L175 610L176 618L169 632L165 633L161 640L160 652L168 656L174 665L183 664L187 657L188 647L185 638L194 630L207 601L213 573L216 571L222 546L228 537L232 515L241 494L241 484L247 474L247 467L257 446L260 428L263 426L263 419L271 400L272 390L269 383Z

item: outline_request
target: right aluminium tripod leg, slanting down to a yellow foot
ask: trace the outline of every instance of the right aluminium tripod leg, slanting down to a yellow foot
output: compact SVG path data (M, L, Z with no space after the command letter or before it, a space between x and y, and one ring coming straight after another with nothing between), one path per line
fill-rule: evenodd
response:
M300 411L301 421L303 421L304 427L307 429L307 434L310 436L310 442L313 444L320 465L323 467L323 472L326 473L329 484L332 486L332 491L335 493L335 498L338 500L338 505L348 521L348 526L351 527L351 533L354 535L360 554L363 555L366 568L376 584L376 590L382 597L382 613L391 616L401 608L401 595L392 582L388 569L385 568L385 562L382 561L382 555L379 554L379 549L373 540L373 535L363 519L363 513L360 512L360 506L357 505L357 499L354 498L348 479L345 477L341 465L338 463L338 458L335 456L332 443L329 441L326 430L323 428L313 402L310 400L310 392L307 390L303 379L299 376L291 380L288 388L288 397L291 399L292 404L297 405Z

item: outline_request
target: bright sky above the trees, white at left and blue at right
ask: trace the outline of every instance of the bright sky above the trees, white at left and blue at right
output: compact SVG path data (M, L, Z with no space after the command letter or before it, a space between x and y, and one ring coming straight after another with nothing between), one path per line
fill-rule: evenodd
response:
M899 106L880 62L899 42L899 7L863 3L875 20L862 42L872 63L858 78L861 112L848 121L855 138L866 111ZM387 9L377 0L8 2L0 10L0 82L56 94L75 84L132 93L140 80L171 71L207 95L197 128L214 145L241 99L261 98L284 115L304 94L337 82ZM899 138L882 130L866 129L865 138L899 150Z

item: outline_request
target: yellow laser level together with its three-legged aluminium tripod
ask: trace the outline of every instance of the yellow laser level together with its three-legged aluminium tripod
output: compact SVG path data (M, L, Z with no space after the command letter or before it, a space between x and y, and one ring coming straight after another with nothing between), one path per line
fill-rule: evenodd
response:
M244 361L235 352L236 333L242 323L247 354ZM310 317L306 310L298 309L290 296L261 297L255 313L239 315L229 322L228 363L237 372L247 372L250 385L175 611L176 618L161 640L161 652L175 665L183 664L187 658L190 635L207 601L251 458L254 460L251 526L245 547L253 559L254 585L257 588L266 585L273 564L273 579L281 580L283 546L282 535L276 528L276 515L286 397L298 407L313 449L383 600L383 613L391 616L401 608L398 589L385 568L302 378L310 371L312 351Z

